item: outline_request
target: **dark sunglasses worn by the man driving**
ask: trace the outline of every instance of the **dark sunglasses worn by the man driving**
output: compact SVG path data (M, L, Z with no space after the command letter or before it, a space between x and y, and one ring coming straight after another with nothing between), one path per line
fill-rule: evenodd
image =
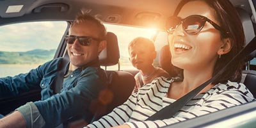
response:
M74 35L66 35L65 41L67 44L74 44L74 42L78 40L79 44L83 46L88 46L92 43L92 40L96 40L97 42L101 42L102 40L99 38L93 38L90 36L74 36Z

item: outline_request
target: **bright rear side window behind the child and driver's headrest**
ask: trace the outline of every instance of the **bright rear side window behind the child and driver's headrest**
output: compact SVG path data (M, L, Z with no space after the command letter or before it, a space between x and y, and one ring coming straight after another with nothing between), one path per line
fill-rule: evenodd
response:
M113 24L104 24L107 31L115 33L118 38L118 46L120 51L120 70L134 70L131 61L129 61L128 44L136 37L143 36L145 38L151 38L157 35L155 42L156 51L158 52L163 45L167 43L167 37L165 32L159 32L156 29L150 28L136 28L131 26L120 26ZM165 33L165 34L164 34ZM164 41L163 41L164 40ZM154 61L154 66L159 66L158 58ZM107 70L117 70L118 65L107 67Z

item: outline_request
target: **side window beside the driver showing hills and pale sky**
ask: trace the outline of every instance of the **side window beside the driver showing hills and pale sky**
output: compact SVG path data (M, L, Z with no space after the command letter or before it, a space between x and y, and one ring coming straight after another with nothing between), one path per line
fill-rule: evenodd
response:
M52 60L67 25L44 21L0 26L0 77L26 73Z

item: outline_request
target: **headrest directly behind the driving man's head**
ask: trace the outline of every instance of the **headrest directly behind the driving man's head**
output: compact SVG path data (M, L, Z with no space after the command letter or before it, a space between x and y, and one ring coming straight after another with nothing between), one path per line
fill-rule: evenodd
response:
M120 58L117 37L108 32L106 41L106 48L99 54L100 66L116 65Z

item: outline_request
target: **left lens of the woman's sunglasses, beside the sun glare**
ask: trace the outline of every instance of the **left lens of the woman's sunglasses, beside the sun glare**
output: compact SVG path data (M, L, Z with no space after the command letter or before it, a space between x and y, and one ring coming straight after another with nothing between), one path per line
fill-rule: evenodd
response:
M179 26L182 19L179 17L170 17L166 22L166 31L173 34L173 31Z

